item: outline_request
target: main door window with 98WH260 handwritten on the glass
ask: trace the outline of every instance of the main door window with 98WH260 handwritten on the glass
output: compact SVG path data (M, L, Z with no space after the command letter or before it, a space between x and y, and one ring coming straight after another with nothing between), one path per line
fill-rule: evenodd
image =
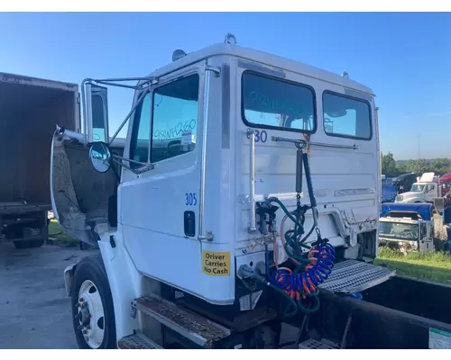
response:
M198 130L199 76L191 75L153 92L151 162L194 150Z

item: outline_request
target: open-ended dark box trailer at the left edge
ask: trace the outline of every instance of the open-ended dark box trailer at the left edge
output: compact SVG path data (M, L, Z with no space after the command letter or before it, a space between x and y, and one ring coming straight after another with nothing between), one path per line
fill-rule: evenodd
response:
M0 73L0 242L41 247L56 124L79 131L78 85Z

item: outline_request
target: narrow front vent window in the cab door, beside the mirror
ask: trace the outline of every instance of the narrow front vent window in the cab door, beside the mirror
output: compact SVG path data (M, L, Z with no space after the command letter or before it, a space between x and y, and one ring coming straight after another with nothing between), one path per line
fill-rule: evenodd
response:
M151 94L146 94L143 103L135 110L133 121L130 158L134 161L147 163L149 161L149 139L151 135ZM130 163L133 168L139 164Z

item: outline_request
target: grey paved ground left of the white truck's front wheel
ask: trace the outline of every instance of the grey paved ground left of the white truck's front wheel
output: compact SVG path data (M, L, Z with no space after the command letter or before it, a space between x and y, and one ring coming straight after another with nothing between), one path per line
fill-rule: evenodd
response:
M0 349L77 348L63 270L93 251L0 244Z

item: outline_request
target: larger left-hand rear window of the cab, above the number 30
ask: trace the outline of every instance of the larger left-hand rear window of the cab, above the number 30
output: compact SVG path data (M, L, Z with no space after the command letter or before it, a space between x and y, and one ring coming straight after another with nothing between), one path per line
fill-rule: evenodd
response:
M314 132L315 94L308 85L244 71L242 117L248 126Z

